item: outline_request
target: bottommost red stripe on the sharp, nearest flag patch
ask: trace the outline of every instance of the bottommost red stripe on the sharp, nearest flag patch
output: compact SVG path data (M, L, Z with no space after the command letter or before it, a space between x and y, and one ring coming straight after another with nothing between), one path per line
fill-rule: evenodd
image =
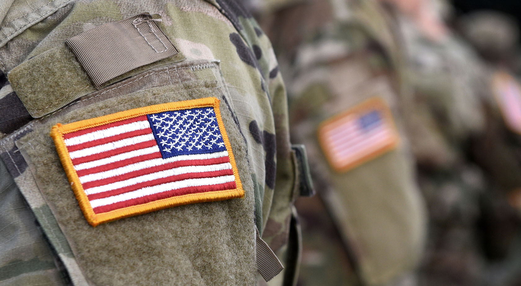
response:
M168 198L168 197L173 197L173 196L204 193L204 192L211 192L211 191L233 190L235 188L237 188L237 185L235 184L235 182L229 182L229 183L224 183L224 184L215 184L215 185L205 185L205 186L189 186L187 188L181 188L181 189L177 189L177 190L171 190L171 191L166 191L166 192L157 193L157 194L153 194L153 195L133 198L132 200L114 203L111 205L99 206L99 207L95 207L93 210L94 210L95 214L100 214L100 213L110 212L111 210L115 210L115 209L119 209L119 208L123 208L123 207L146 204L149 202L153 202L153 201L157 201L157 200L161 200L163 198ZM151 209L151 212L153 210L155 210L155 209Z

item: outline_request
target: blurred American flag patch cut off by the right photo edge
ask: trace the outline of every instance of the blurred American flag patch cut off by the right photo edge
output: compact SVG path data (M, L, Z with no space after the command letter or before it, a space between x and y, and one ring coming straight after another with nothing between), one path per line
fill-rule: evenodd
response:
M506 126L516 133L521 133L521 88L519 84L509 73L499 71L494 75L494 90Z

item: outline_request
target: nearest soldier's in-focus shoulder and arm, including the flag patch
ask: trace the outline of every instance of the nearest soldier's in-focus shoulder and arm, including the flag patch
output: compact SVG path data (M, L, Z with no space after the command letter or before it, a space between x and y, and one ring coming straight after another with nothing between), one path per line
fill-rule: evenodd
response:
M0 23L0 285L255 285L272 251L294 284L309 180L241 5L3 1Z

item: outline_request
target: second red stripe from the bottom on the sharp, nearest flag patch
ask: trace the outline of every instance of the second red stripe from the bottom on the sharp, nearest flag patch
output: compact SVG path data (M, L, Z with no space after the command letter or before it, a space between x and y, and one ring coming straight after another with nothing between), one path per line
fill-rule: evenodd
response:
M186 180L186 179L214 178L214 177L227 176L227 175L233 175L233 170L227 169L227 170L219 170L219 171L212 171L212 172L185 173L185 174L150 180L150 181L146 181L146 182L141 182L138 184L125 186L123 188L110 190L110 191L106 191L103 193L91 194L91 195L88 195L87 197L89 198L89 201L92 201L92 200L96 200L96 198L103 198L103 197L108 197L108 196L119 195L122 193L128 193L128 192L132 192L135 190L139 190L141 188L145 188L147 186L154 186L154 185L158 185L158 184L170 183L170 182L181 181L181 180Z

